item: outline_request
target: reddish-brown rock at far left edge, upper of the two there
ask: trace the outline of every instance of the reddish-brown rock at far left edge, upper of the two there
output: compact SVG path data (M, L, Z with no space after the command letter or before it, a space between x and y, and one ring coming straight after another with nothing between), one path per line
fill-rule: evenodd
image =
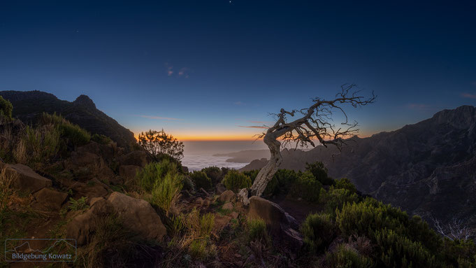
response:
M25 166L24 164L4 164L6 174L15 176L13 188L26 191L37 192L45 187L51 187L52 181L48 178L40 176Z

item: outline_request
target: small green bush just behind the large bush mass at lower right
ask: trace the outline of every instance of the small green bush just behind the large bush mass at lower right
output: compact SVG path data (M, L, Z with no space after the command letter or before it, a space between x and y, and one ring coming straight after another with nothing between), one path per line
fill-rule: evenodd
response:
M324 204L324 211L336 218L336 209L342 209L346 203L359 202L359 196L347 189L331 187L329 191L321 190L320 203Z

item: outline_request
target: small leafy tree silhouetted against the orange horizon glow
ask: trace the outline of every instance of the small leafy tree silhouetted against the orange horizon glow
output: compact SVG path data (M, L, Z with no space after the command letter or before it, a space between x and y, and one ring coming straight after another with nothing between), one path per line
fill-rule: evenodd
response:
M172 135L166 134L164 129L161 131L150 129L148 132L140 132L139 145L149 151L157 160L160 155L170 155L175 160L183 157L183 142L178 141Z

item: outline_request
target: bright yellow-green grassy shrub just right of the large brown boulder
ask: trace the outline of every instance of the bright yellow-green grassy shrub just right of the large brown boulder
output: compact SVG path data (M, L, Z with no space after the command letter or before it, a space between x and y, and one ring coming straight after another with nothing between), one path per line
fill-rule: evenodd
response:
M168 216L168 211L170 211L172 204L177 201L182 186L182 175L168 172L163 179L155 181L148 201L150 204L164 209Z

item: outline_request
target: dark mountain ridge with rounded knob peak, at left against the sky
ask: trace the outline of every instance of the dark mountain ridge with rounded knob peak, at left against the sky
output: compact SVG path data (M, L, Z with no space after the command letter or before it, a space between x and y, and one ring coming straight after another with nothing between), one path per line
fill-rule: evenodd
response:
M86 95L80 95L75 101L63 101L55 95L35 91L0 91L0 96L13 104L13 116L26 123L35 122L41 113L57 113L86 129L92 134L103 134L117 145L128 148L136 141L134 133L122 127L106 113L99 111L94 102Z

